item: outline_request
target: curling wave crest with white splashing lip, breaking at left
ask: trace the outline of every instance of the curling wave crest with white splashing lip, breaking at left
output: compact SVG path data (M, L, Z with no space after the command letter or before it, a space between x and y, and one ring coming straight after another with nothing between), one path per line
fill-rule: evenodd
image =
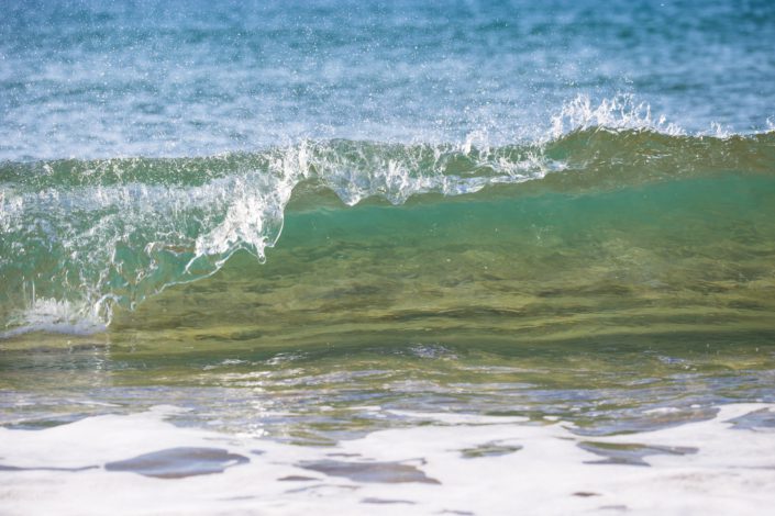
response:
M554 121L561 135L500 147L477 137L460 145L336 139L212 157L4 162L2 323L12 333L100 328L114 306L133 309L168 285L208 277L236 250L264 261L289 202L296 211L337 209L331 192L351 206L401 205L775 175L775 133L688 136L643 116L601 119L616 109L577 100Z

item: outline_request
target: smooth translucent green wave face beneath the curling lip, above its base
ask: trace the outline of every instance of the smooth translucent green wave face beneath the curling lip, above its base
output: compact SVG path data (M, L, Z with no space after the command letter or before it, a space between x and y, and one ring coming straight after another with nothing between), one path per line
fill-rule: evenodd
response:
M287 216L259 265L124 313L118 334L255 345L553 341L767 332L775 179L727 176L612 192L491 192ZM175 348L175 346L170 346Z

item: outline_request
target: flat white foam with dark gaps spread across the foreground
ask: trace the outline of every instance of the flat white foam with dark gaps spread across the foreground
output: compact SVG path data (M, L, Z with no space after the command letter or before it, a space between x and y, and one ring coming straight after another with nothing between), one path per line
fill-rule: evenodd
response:
M0 471L0 512L30 514L761 514L775 503L775 430L733 429L730 418L775 405L721 407L710 420L612 437L582 437L569 425L510 418L412 414L434 425L372 433L335 447L302 447L180 428L174 407L90 417L45 430L0 428L0 463L100 468L80 472ZM452 423L452 424L450 424ZM696 448L653 455L651 467L590 463L580 441ZM463 450L518 451L466 458ZM174 447L224 448L251 462L222 474L164 480L101 468ZM483 448L484 447L484 448ZM256 455L254 451L263 453ZM468 455L467 457L472 457ZM400 463L429 482L365 482L305 469L307 461ZM329 462L330 463L330 462ZM289 475L309 481L280 481ZM417 480L417 479L416 479Z

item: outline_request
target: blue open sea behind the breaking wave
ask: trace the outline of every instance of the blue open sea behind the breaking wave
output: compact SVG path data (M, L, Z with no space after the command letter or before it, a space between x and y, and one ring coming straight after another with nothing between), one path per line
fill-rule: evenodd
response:
M750 133L775 116L774 42L770 1L11 1L0 159L512 144L578 96Z

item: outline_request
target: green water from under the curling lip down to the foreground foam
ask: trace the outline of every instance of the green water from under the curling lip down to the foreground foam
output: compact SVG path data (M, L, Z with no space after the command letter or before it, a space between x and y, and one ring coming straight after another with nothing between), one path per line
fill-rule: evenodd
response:
M103 334L0 341L2 422L165 403L196 408L181 424L329 444L409 424L374 406L618 433L774 400L770 175L299 199L263 265L239 253Z

